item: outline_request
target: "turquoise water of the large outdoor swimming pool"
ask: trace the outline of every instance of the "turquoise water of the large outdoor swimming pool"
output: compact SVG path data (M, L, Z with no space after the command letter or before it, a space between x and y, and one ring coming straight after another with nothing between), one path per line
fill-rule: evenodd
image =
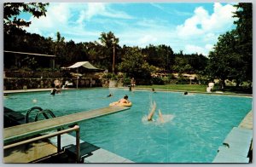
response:
M108 97L113 93L113 97ZM232 127L252 110L252 98L227 95L183 95L127 89L80 89L20 93L4 98L4 106L26 113L34 106L56 116L106 107L124 95L133 106L81 123L81 139L137 163L211 163ZM36 100L36 102L34 101ZM145 120L152 101L157 103L156 121ZM165 119L157 121L158 109Z

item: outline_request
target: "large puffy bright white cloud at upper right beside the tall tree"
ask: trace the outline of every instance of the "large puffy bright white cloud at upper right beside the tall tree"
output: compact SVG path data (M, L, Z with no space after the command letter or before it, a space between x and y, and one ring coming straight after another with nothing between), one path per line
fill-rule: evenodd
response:
M220 3L214 3L213 14L209 14L203 7L198 7L194 15L185 20L182 25L177 26L177 35L179 37L197 37L209 32L226 32L233 26L234 18L232 12L236 8L230 4L222 6Z

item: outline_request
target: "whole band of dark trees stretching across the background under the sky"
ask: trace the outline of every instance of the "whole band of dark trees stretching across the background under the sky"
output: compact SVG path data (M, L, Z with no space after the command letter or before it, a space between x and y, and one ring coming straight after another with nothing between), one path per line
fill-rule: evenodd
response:
M125 72L129 77L151 78L152 72L197 73L207 78L252 82L253 27L252 3L236 4L236 29L218 37L218 43L209 56L174 53L171 46L149 44L144 48L120 46L113 32L102 32L99 40L75 43L65 41L61 32L56 38L42 37L22 29L31 23L17 19L21 11L35 17L47 14L49 3L4 3L4 50L56 55L56 68L77 61L89 60L108 72ZM7 58L8 59L8 58ZM44 62L27 57L24 66L37 70Z

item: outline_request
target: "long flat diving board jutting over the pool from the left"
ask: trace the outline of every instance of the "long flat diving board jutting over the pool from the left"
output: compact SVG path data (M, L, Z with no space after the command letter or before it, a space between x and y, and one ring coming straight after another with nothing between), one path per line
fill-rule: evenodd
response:
M50 118L29 124L20 124L5 128L3 129L3 143L8 144L9 142L18 141L49 130L57 130L62 127L78 124L86 119L101 117L103 115L121 112L127 109L130 109L130 107L103 107L91 111L78 112L57 118Z

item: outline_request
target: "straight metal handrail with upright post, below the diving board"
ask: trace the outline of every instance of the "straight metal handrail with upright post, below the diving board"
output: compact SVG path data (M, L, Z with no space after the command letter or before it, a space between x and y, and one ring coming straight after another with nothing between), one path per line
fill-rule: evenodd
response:
M11 148L11 147L17 147L17 146L20 146L20 145L28 144L28 143L31 143L33 141L39 141L39 140L47 139L47 138L50 138L50 137L54 137L56 135L62 135L62 134L65 134L65 133L73 131L73 130L76 131L76 152L77 152L76 161L77 161L77 163L79 163L80 162L80 157L81 157L80 156L80 127L79 127L79 125L75 125L75 126L73 126L73 128L69 128L67 130L61 130L61 131L57 131L57 132L54 132L54 133L51 133L51 134L48 134L48 135L41 135L41 136L38 136L38 137L34 137L34 138L28 139L26 141L15 142L13 144L9 144L7 146L4 146L3 150ZM59 147L60 144L61 144L60 142L57 143L58 147Z

